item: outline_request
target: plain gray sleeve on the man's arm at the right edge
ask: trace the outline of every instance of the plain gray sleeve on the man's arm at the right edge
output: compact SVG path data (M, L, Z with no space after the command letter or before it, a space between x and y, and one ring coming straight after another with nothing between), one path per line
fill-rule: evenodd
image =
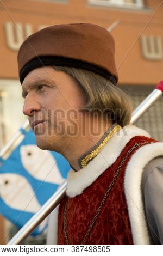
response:
M155 157L142 174L142 198L152 245L163 244L163 156Z

